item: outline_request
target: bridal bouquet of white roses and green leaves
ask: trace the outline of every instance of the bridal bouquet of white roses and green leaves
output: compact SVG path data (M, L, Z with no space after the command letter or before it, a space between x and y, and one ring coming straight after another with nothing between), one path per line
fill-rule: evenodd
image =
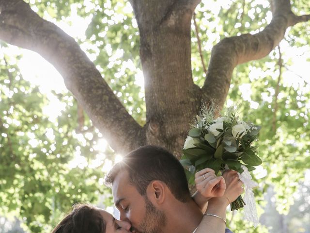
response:
M205 167L212 168L216 174L225 169L232 169L247 177L246 183L239 175L246 185L251 186L250 195L254 199L251 188L256 185L248 171L262 164L262 160L257 156L257 147L252 145L257 140L261 127L240 119L233 108L227 109L216 119L214 115L214 107L203 107L202 113L196 117L192 129L188 132L181 160L186 168L187 179L189 183L193 183L195 172ZM231 210L244 207L245 204L239 196L231 203Z

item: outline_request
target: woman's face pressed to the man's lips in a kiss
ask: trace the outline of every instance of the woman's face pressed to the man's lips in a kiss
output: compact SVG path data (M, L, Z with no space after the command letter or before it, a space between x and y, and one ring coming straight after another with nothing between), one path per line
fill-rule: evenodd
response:
M106 222L106 233L130 233L131 225L129 222L116 220L107 211L98 209Z

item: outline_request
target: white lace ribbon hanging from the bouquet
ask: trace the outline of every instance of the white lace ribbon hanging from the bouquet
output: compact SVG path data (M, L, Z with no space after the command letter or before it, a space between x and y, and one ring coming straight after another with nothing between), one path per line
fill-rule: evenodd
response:
M245 185L245 193L243 200L246 202L244 208L244 219L253 223L254 227L257 227L259 220L256 211L255 198L253 193L253 188L258 184L252 180L251 174L248 172L248 168L244 165L241 166L244 170L242 174L238 172L239 179Z

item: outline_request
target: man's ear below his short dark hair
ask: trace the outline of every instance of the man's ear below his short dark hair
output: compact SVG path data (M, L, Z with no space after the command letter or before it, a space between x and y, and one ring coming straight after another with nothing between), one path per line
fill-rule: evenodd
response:
M146 195L153 203L161 204L166 197L166 185L161 181L152 181L147 186Z

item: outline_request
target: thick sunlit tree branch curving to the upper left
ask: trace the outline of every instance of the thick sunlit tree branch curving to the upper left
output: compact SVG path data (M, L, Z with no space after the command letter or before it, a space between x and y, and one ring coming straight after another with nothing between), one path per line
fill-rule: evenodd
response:
M73 38L40 18L22 0L0 0L0 39L42 55L62 74L93 124L118 152L145 143L144 130Z

